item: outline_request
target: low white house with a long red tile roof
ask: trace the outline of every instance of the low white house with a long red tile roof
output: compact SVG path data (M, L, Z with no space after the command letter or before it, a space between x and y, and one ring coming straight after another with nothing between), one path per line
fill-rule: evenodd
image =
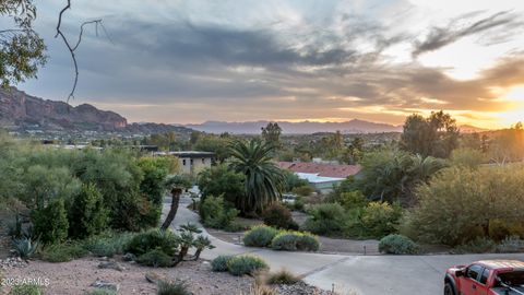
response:
M300 179L308 180L322 193L330 192L334 185L341 184L349 176L360 172L358 165L340 165L326 163L278 162L282 169L294 172Z

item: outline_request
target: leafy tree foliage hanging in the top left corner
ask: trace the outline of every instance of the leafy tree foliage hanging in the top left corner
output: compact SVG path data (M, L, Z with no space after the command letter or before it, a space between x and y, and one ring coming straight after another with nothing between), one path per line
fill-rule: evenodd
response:
M0 15L12 20L0 30L0 79L3 87L35 78L46 62L44 40L33 30L36 8L32 0L0 1Z

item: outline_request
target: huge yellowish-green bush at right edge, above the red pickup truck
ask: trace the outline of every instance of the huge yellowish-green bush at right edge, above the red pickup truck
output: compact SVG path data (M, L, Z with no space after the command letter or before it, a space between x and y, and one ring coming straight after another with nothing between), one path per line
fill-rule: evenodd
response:
M522 179L521 165L445 169L419 187L418 205L407 214L401 233L450 246L476 237L500 239L500 233L523 236Z

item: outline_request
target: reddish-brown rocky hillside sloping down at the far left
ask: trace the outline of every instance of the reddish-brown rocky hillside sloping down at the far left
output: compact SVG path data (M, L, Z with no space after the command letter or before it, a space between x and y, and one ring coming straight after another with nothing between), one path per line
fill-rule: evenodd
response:
M0 88L0 126L9 129L116 131L124 129L128 122L114 111L99 110L87 104L73 107L12 87Z

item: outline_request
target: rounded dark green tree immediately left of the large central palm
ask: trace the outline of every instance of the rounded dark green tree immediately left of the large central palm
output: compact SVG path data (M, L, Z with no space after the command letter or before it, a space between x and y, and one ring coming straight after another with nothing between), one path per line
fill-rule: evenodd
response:
M235 173L225 164L206 168L199 174L196 185L202 192L202 199L209 196L223 196L226 202L241 208L246 197L246 176Z

